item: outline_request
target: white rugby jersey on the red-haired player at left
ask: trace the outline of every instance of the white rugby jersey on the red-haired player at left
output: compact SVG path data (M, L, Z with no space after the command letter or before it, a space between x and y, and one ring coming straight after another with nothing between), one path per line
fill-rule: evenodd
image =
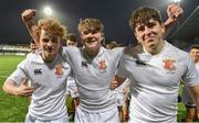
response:
M29 113L39 120L55 120L67 115L65 86L71 67L56 55L52 63L44 63L41 55L31 54L18 65L8 78L21 85L24 78L34 88Z

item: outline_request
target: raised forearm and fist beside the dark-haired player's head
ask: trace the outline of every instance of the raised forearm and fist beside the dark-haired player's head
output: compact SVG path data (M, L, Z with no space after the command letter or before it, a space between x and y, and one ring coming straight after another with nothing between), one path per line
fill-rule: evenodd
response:
M172 3L168 5L167 8L168 19L165 22L166 31L177 22L177 20L180 18L182 13L184 13L184 10L178 4Z

